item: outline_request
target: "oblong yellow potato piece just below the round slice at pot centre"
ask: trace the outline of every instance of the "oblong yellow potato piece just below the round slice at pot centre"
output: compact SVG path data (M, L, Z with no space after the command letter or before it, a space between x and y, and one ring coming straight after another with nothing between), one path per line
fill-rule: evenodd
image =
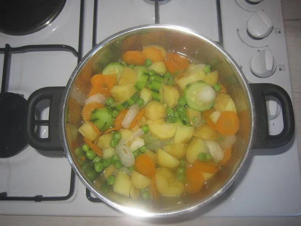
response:
M177 127L168 123L152 123L148 125L148 128L150 133L158 137L160 140L170 139L175 136L177 132Z

